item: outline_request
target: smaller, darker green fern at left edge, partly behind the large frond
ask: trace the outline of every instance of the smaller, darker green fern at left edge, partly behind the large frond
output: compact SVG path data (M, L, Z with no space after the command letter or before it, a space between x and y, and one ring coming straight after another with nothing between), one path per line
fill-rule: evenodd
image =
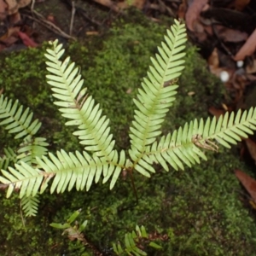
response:
M46 154L48 149L48 143L42 137L34 137L38 132L41 123L38 119L32 121L33 113L29 108L23 110L23 106L18 101L12 102L8 97L4 97L3 94L0 96L0 119L3 119L0 125L5 125L5 129L9 130L9 133L14 133L15 139L23 139L20 143L20 148L14 150L11 148L4 148L4 156L0 160L1 169L11 168L10 163L14 164L26 162L29 165L37 165L37 157L41 157ZM11 170L11 169L9 169ZM10 177L12 172L6 172L6 177ZM16 173L16 172L15 172ZM16 173L17 174L17 173ZM17 177L21 177L17 174ZM24 182L26 184L26 182ZM8 191L12 192L13 189L18 189L19 184L16 183L9 185ZM35 196L35 197L33 197ZM20 195L21 206L26 216L35 216L38 210L38 195Z

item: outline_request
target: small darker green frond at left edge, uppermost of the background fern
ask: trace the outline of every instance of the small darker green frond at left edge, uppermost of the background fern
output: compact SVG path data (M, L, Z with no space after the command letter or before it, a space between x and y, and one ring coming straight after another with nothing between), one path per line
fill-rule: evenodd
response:
M5 129L9 130L9 133L17 133L15 139L37 133L41 123L38 119L32 121L32 116L29 108L23 111L23 106L18 100L13 103L8 97L0 96L0 119L3 119L0 125L6 125Z

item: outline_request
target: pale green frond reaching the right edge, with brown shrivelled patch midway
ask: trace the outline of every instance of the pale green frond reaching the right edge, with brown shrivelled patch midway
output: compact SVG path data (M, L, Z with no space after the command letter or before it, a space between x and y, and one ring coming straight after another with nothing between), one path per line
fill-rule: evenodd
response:
M183 170L183 164L191 167L200 163L200 158L207 160L202 149L218 151L218 143L230 148L230 144L241 141L241 137L247 138L247 134L253 134L255 130L256 108L243 113L239 110L236 116L234 112L225 113L218 120L215 117L212 120L208 118L206 122L195 119L189 125L161 137L160 142L148 146L138 162L141 168L137 171L150 176L153 163L159 163L166 171L169 170L166 163L175 170Z

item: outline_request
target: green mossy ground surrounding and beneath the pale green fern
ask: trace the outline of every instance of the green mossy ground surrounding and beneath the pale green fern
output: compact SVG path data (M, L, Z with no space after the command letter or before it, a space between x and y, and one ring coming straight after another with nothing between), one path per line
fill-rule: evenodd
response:
M156 52L166 30L166 26L141 16L135 20L136 23L119 21L119 26L113 26L102 38L73 43L67 49L67 55L81 67L90 94L101 102L103 112L110 118L118 148L129 146L132 98L147 72L149 57ZM40 135L48 138L52 151L74 151L81 146L72 136L72 129L65 127L45 83L44 48L2 58L0 87L5 96L32 108L43 122ZM222 84L207 72L206 63L193 47L188 49L179 84L177 101L168 113L164 132L191 119L207 118L207 108L221 102ZM14 145L3 130L1 142L2 146ZM148 255L254 255L255 221L239 201L241 187L233 174L235 168L245 171L247 167L237 160L236 152L220 151L207 154L207 162L184 172L159 169L150 179L135 173L138 204L128 177L120 177L112 191L108 183L99 183L89 192L45 193L38 216L26 218L25 227L17 196L6 200L1 193L0 254L91 255L79 242L67 241L59 230L49 227L49 223L62 223L82 208L81 220L89 219L85 234L103 255L111 255L111 242L123 241L125 232L134 230L136 224L143 224L148 232L169 236L168 241L158 241L163 250L149 250Z

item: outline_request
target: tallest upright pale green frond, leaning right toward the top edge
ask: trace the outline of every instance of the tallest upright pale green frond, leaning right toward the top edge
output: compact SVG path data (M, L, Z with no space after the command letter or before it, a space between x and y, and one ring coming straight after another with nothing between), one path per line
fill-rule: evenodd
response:
M154 143L160 135L161 125L166 113L172 106L177 94L177 84L172 84L183 70L183 49L185 48L186 32L183 24L175 20L171 30L167 30L165 42L159 47L159 54L151 58L152 67L149 67L148 78L143 81L143 90L138 90L134 100L135 120L130 129L131 149L129 154L135 163L141 159L145 148ZM167 86L168 84L171 84ZM142 160L141 160L142 163ZM147 166L150 168L149 166ZM140 166L135 165L139 171ZM150 168L153 172L153 168Z

